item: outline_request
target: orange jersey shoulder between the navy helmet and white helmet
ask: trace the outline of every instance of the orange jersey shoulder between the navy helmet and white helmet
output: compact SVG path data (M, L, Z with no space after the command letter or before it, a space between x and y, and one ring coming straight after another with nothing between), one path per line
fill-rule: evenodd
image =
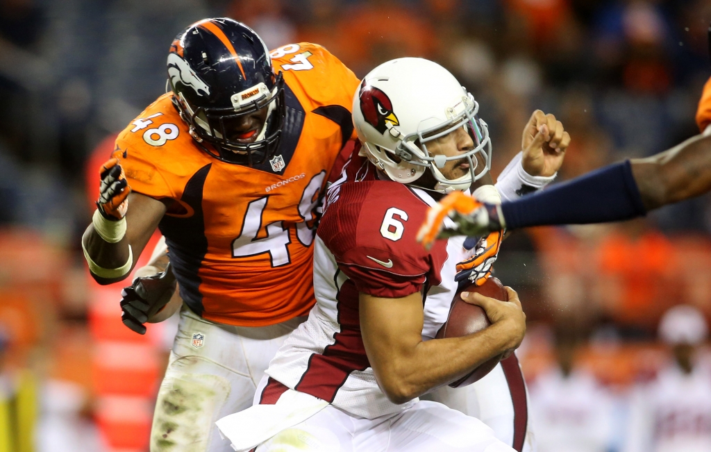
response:
M315 107L340 105L352 113L360 80L331 52L318 44L295 43L272 50L274 72L296 80L309 92ZM287 75L288 74L288 75ZM355 130L350 139L357 139Z

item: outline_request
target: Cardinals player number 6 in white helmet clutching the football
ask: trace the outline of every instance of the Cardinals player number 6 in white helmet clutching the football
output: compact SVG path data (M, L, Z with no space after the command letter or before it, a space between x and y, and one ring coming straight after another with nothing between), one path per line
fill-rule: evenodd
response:
M328 189L316 235L316 306L270 362L255 406L218 421L235 450L532 450L523 377L512 355L525 333L518 297L510 289L508 303L463 294L493 324L434 339L468 250L464 237L429 252L415 242L428 206L445 193L496 193L479 186L488 177L491 142L478 109L447 70L428 60L392 60L363 79L353 99L362 148ZM532 156L549 171L560 166L570 138L555 118L540 129L537 118L547 119L537 113L527 125L515 171L496 185L503 193ZM487 414L494 430L432 401L447 399L437 388L498 355L509 358L480 380L483 386L448 391L469 414L475 404L496 411ZM432 391L431 400L418 401ZM496 424L506 425L495 433Z

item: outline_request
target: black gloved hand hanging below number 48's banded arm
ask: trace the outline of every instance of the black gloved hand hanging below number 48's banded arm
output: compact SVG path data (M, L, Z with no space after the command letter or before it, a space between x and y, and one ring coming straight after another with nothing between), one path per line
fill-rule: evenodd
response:
M169 263L165 271L134 279L121 291L121 321L136 333L145 334L144 323L163 309L176 290L176 277Z

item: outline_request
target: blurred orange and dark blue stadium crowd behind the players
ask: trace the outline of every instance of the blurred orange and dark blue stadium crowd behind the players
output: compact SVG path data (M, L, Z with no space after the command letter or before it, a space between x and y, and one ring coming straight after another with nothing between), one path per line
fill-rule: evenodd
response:
M495 174L535 108L572 136L559 181L662 151L697 133L711 74L707 0L1 0L0 452L147 450L171 326L124 328L121 285L90 281L79 240L112 137L164 92L173 36L206 16L270 48L320 43L359 77L436 60L481 104ZM711 198L518 232L496 275L528 314L528 380L556 343L575 345L615 401L617 450L631 387L669 359L661 314L683 302L711 316Z

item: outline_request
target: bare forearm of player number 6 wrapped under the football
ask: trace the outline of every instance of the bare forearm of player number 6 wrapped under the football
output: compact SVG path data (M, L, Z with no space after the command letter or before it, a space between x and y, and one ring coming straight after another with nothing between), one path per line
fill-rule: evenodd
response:
M457 380L492 357L515 348L508 323L496 323L461 338L420 342L406 353L371 360L380 387L392 402L402 404Z

